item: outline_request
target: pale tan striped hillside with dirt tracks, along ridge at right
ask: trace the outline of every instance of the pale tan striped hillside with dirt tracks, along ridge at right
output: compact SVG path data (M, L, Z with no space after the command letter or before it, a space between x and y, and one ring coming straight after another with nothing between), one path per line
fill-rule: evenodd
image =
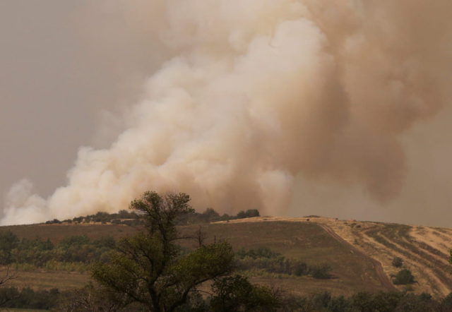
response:
M371 260L375 269L383 270L387 278L400 270L391 264L393 258L400 257L404 267L415 275L417 282L412 285L415 292L428 292L434 296L444 296L452 292L452 267L448 263L448 250L452 247L452 229L326 217L258 217L232 222L316 224L337 239L350 253L358 253ZM400 290L405 288L397 287Z

